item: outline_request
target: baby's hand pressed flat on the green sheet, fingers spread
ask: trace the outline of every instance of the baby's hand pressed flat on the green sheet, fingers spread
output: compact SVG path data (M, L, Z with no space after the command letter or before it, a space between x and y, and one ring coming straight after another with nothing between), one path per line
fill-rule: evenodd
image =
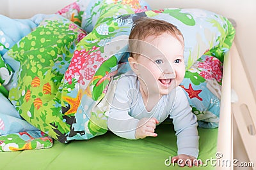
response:
M193 156L185 155L185 154L180 154L175 157L172 157L172 163L177 162L177 164L181 167L183 166L199 166L202 164L201 160L197 160Z

